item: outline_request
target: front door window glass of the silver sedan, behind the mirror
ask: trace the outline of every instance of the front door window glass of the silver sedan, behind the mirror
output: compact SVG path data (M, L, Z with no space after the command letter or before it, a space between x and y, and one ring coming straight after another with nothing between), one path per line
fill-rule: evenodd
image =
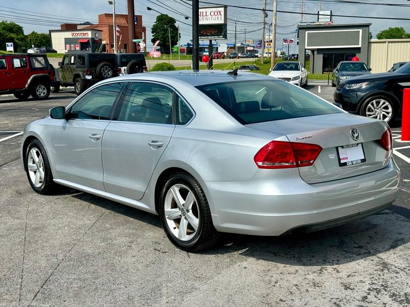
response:
M70 118L108 120L121 88L122 83L111 83L88 92L71 107Z

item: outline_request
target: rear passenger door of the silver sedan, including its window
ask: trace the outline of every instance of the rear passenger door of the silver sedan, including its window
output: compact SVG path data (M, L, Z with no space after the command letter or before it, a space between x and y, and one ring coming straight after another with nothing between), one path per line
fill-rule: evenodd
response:
M176 93L157 83L132 82L117 120L104 133L102 159L107 192L140 200L175 128Z

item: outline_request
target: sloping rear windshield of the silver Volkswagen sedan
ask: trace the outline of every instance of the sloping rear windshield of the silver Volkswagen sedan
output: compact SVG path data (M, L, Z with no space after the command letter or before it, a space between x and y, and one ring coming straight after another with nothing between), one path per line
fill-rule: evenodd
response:
M342 113L339 108L293 84L255 80L197 86L241 124Z

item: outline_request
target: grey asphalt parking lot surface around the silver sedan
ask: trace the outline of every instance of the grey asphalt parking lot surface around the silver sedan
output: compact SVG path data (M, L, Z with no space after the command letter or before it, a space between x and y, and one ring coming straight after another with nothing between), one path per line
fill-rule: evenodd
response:
M308 90L331 100L334 89ZM74 97L0 97L0 306L410 306L410 142L399 121L389 210L310 234L226 235L193 254L169 242L156 215L31 189L20 135Z

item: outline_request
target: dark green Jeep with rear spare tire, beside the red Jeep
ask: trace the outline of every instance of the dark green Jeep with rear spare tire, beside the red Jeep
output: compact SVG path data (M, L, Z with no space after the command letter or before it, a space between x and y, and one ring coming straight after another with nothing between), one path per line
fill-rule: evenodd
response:
M60 86L74 86L77 95L83 93L90 85L117 74L117 57L113 53L66 53L58 62L56 69L56 93Z

